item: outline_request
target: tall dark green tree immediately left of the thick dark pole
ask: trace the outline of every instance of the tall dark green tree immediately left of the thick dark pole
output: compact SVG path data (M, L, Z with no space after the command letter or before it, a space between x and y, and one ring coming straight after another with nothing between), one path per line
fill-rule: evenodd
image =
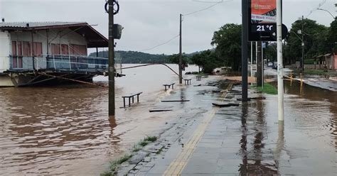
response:
M222 58L226 66L232 70L240 70L241 65L241 30L242 26L228 23L215 31L211 45L215 45L215 53Z

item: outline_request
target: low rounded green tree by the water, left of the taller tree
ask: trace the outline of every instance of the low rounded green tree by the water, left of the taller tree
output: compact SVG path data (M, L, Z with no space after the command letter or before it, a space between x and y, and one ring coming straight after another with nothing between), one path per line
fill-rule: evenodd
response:
M211 73L216 67L223 66L223 60L219 59L212 50L205 50L193 55L191 62L201 67L204 73Z

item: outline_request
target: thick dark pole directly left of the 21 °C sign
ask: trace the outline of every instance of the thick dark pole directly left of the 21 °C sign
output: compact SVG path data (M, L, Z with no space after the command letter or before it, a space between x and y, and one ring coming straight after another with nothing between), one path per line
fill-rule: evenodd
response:
M248 101L248 1L242 0L242 101Z

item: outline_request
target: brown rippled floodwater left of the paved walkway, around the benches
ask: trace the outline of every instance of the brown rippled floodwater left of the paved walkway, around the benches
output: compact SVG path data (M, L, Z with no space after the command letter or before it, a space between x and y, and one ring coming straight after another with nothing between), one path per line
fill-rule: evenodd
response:
M1 88L0 175L99 175L110 160L158 131L169 117L148 109L168 95L161 84L176 82L176 75L162 65L123 73L127 77L116 78L112 119L107 117L107 88ZM94 80L106 82L107 77ZM144 92L139 104L120 109L121 96L132 92Z

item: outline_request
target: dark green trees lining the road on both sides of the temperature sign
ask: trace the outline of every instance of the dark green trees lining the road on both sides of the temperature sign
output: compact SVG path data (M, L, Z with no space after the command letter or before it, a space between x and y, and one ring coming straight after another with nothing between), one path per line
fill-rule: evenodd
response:
M215 46L215 50L205 50L193 55L190 58L191 62L202 67L204 72L212 72L215 67L222 66L232 67L233 71L239 71L241 69L241 30L241 25L225 24L213 34L210 44ZM337 53L335 47L337 42L337 18L332 21L329 27L306 18L292 23L291 30L287 34L287 38L284 39L285 64L289 65L301 61L302 34L304 35L304 61L314 60L319 55L333 53L333 49ZM253 53L255 53L255 48ZM264 59L269 62L277 61L277 43L266 43Z

